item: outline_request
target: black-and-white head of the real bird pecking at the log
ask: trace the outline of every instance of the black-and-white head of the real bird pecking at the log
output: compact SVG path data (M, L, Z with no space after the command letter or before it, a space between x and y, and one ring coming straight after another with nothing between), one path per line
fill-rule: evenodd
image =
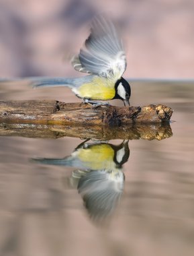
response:
M131 96L131 88L130 84L123 78L118 79L115 83L115 97L120 100L123 100L124 105L126 106L126 102L130 106L130 96Z

